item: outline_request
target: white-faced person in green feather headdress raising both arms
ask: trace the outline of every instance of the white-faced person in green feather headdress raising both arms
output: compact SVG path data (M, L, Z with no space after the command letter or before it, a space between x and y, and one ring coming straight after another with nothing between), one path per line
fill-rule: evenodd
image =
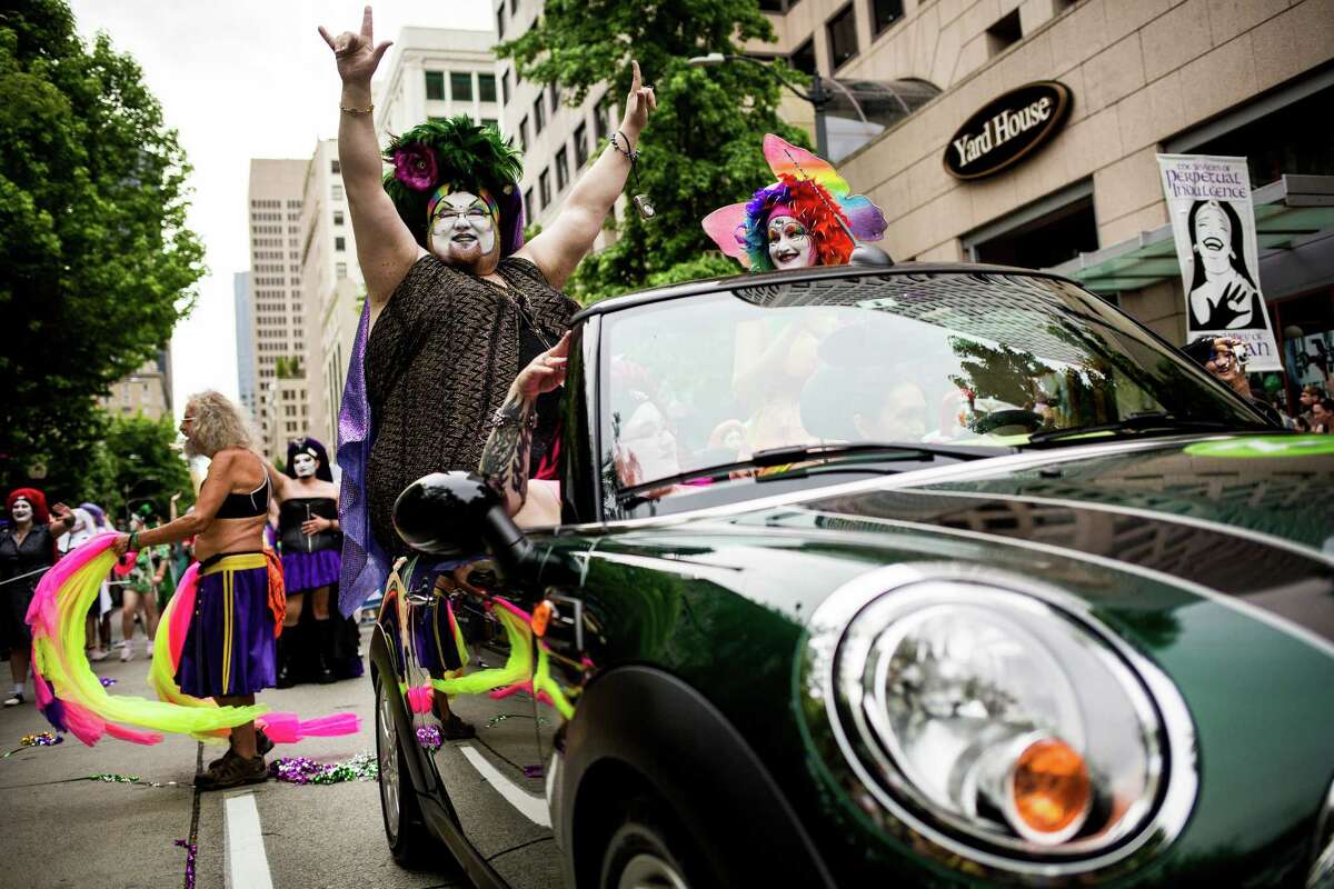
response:
M579 307L560 288L622 193L656 100L631 63L620 128L526 244L522 163L499 132L467 117L420 124L390 143L382 176L371 77L390 44L375 43L370 7L359 32L320 35L343 81L339 161L367 287L339 416L347 614L383 585L390 554L407 552L392 522L399 493L476 466L519 369L567 329ZM555 397L536 405L535 465L558 415Z

